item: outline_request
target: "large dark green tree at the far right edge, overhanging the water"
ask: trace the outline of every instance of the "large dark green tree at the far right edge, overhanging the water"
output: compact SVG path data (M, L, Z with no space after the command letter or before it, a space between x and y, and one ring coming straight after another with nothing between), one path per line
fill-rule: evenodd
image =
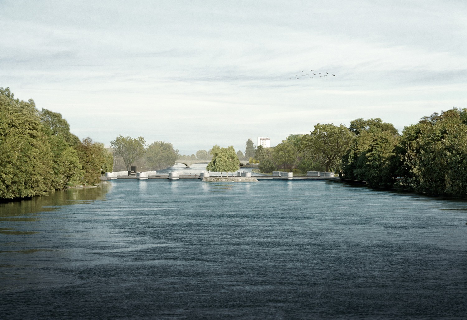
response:
M466 108L433 113L405 127L395 152L402 188L467 198Z

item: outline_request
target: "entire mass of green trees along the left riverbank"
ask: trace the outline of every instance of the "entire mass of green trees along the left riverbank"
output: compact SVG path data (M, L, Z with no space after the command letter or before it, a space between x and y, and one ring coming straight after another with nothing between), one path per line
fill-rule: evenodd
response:
M57 112L0 87L0 198L45 195L73 185L95 185L113 157L102 143L79 140Z

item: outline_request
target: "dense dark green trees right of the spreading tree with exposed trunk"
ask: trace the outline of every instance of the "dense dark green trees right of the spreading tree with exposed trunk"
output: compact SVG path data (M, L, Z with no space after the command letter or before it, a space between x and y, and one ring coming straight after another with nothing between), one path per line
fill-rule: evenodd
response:
M381 119L357 119L343 174L373 187L467 197L467 109L433 113L399 136Z

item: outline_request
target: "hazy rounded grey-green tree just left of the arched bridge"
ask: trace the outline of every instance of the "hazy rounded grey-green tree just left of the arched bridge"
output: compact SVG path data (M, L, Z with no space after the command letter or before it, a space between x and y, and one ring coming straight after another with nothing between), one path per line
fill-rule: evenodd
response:
M152 170L171 167L175 164L178 156L178 150L175 150L171 143L153 142L146 149L146 167L150 167Z

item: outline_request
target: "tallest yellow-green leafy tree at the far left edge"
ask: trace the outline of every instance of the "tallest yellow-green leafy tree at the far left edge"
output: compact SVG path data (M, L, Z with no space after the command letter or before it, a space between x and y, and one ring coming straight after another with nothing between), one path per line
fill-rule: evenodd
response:
M0 198L46 195L53 190L50 144L34 101L0 88Z

